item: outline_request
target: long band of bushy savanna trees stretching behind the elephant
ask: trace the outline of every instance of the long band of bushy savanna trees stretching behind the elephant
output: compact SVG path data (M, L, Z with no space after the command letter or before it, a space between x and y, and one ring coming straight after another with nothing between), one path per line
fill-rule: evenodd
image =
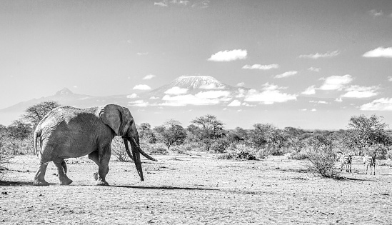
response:
M0 152L31 154L36 125L56 107L56 101L30 106L9 126L0 125ZM338 131L305 130L295 127L278 129L273 124L253 124L251 129L225 129L216 116L206 114L191 120L189 126L169 119L161 126L137 125L141 146L151 153L168 151L186 153L204 151L222 153L222 158L263 159L268 155L288 154L291 159L306 159L306 151L321 146L353 155L375 154L379 159L392 158L392 136L380 116L351 116L347 129ZM114 139L114 155L128 160L125 149Z

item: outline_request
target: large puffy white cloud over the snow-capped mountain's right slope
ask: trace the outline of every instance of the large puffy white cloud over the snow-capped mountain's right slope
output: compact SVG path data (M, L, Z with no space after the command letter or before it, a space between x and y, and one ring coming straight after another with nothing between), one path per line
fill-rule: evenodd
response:
M296 100L296 94L286 94L279 91L278 86L273 84L265 84L263 91L259 92L255 89L251 89L245 96L244 101L259 101L263 104L273 104L275 102L286 102Z

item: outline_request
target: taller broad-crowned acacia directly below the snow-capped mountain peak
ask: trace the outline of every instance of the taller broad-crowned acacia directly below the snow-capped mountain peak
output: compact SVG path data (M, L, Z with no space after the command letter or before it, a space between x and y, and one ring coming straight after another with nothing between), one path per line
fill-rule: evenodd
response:
M216 116L207 114L206 116L196 117L191 121L187 130L192 139L202 144L206 151L209 151L214 140L220 139L223 134L223 122L218 121Z

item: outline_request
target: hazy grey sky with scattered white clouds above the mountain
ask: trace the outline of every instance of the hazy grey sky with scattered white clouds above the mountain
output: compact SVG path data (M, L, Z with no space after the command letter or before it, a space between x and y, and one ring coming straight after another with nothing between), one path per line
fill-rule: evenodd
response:
M213 76L253 91L225 108L231 126L392 124L392 1L3 0L0 31L0 109Z

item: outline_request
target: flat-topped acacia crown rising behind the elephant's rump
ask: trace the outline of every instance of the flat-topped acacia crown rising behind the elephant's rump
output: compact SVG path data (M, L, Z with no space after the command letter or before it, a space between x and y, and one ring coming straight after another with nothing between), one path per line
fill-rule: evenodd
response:
M32 126L35 127L39 121L41 121L41 119L43 119L44 116L49 113L49 111L59 106L60 104L56 101L43 101L27 108L24 111L24 115L22 115L22 119L28 121Z

